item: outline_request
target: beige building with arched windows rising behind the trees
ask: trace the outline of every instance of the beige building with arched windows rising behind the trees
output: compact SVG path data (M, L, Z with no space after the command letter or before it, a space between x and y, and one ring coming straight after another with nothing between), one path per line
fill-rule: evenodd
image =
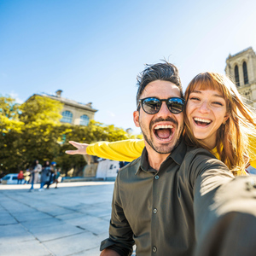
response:
M94 115L97 112L92 108L92 103L87 104L75 102L61 96L62 90L57 90L55 96L49 94L42 94L41 96L49 97L52 100L61 102L64 104L61 110L62 123L68 123L72 125L88 125L91 119L94 119Z

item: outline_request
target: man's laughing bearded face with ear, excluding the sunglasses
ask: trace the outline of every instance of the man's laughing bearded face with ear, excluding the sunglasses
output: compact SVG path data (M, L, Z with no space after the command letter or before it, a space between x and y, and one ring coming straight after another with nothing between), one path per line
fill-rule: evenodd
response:
M168 81L155 80L146 86L140 99L146 97L167 99L180 96L177 85ZM158 113L148 114L140 107L139 111L133 113L133 117L135 125L141 127L147 150L152 148L159 154L170 154L176 147L183 131L183 113L171 113L166 102L162 102Z

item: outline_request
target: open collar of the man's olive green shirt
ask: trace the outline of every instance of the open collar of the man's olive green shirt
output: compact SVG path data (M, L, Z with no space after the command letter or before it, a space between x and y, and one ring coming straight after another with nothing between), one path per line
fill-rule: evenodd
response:
M165 163L167 160L172 159L177 163L177 165L180 166L183 162L183 159L186 153L187 153L187 146L184 143L183 139L181 139L180 143L178 143L177 147L174 148L172 153L168 155L168 157L163 163ZM137 172L135 174L137 174L140 170L143 170L144 172L152 172L152 170L154 170L151 166L149 166L148 151L146 147L143 148L143 153L141 155L141 164L137 167Z

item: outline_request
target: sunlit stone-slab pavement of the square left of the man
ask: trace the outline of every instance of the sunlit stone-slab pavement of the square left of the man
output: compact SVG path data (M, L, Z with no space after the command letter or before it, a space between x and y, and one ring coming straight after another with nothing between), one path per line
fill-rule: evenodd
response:
M0 255L99 255L108 237L113 182L0 184Z

